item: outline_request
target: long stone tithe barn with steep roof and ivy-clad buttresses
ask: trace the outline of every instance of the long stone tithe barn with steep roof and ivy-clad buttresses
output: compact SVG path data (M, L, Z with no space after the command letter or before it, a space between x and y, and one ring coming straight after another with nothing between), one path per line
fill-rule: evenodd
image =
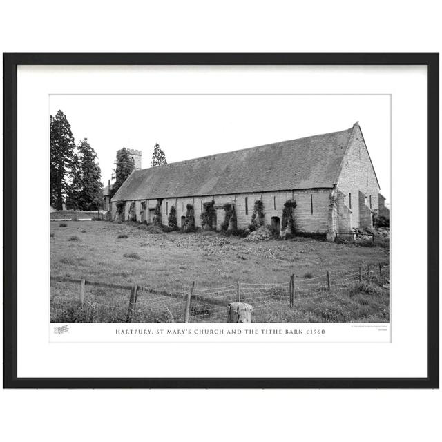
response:
M231 204L238 229L246 229L261 200L265 224L279 230L284 204L291 201L296 202L296 231L334 240L336 233L372 227L378 195L376 173L356 122L345 131L135 170L113 196L111 216L153 222L157 209L167 224L175 206L180 227L191 204L199 227L204 202L213 200L213 228L221 228L224 206Z

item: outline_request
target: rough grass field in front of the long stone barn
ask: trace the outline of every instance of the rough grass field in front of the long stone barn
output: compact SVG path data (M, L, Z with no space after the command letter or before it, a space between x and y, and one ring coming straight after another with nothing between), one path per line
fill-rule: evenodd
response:
M66 225L66 227L61 227ZM307 238L249 242L215 232L148 233L139 224L111 222L51 222L51 276L111 282L169 292L188 291L193 281L198 289L242 284L271 285L295 280L314 280L328 270L334 278L355 274L378 263L387 264L389 249L335 244ZM296 300L294 309L262 309L256 322L387 322L389 317L388 276L371 282L354 282L327 298ZM107 320L121 322L127 310L127 293L109 294L93 288L97 305L113 297L122 304ZM51 284L52 299L72 300L76 287L60 282ZM178 308L178 307L177 307ZM169 312L170 313L170 312ZM172 320L177 320L171 313ZM258 319L259 318L259 319ZM60 319L63 319L60 320ZM210 317L208 318L210 319ZM104 322L95 313L70 316L52 311L53 322ZM137 320L135 318L135 320ZM140 321L167 320L142 317ZM209 321L210 322L210 321Z

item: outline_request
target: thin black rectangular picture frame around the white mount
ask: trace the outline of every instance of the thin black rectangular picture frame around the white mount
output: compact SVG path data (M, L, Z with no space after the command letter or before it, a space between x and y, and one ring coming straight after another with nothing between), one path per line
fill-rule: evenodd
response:
M425 65L428 111L428 329L425 378L18 378L17 66ZM3 54L3 387L5 388L437 388L439 387L439 54L17 53ZM6 213L8 215L6 215ZM411 356L410 356L411 357Z

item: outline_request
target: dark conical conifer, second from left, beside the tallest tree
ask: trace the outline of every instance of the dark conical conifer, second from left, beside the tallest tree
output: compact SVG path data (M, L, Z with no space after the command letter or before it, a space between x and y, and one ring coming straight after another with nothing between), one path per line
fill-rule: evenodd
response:
M71 183L68 188L68 209L99 210L102 206L102 173L97 163L97 153L88 139L79 142L71 167Z

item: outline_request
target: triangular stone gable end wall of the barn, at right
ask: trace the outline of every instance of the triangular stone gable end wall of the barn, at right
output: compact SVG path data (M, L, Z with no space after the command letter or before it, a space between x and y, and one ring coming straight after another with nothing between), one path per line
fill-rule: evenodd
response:
M372 213L378 209L379 186L361 128L355 129L343 159L338 189L344 195L346 210L351 212L352 227L366 227L372 226Z

